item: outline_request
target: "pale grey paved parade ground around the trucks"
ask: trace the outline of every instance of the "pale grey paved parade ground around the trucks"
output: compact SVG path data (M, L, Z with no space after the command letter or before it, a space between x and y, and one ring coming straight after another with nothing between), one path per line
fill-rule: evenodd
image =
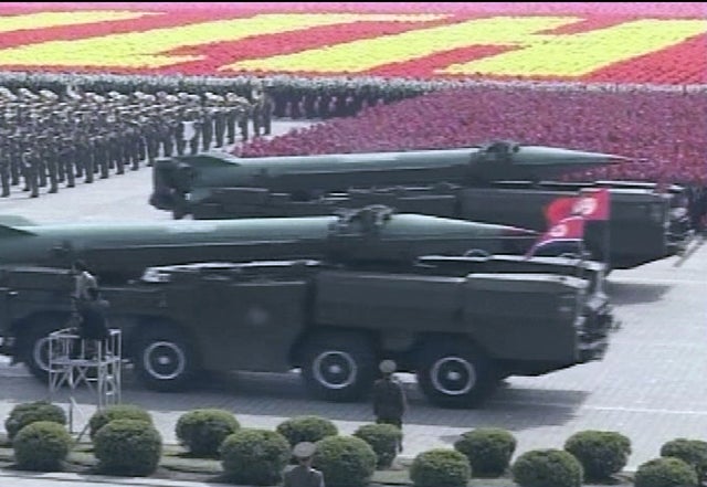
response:
M276 124L276 133L291 126ZM0 212L38 222L168 220L168 213L146 203L149 190L150 173L141 169L36 200L14 195L0 201ZM450 446L460 433L478 426L510 430L519 452L561 447L570 434L599 428L631 437L630 466L635 467L657 456L668 440L707 437L707 245L680 266L676 262L673 257L611 275L609 292L623 327L601 362L540 378L511 378L483 409L473 411L432 407L412 389L405 455ZM0 377L0 417L18 402L46 395L20 367L4 362ZM168 442L175 441L177 417L193 407L229 409L253 427L274 427L296 414L320 414L348 433L371 419L363 403L308 400L296 374L233 374L214 378L199 391L171 394L147 392L128 377L124 402L150 409ZM93 411L91 398L80 396L80 403L77 424Z

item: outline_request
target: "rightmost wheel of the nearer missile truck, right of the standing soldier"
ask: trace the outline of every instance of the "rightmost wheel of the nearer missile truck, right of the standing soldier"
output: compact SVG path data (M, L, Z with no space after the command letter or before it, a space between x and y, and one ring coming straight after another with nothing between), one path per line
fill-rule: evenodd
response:
M478 405L492 392L497 377L476 347L452 341L428 345L416 375L428 400L443 407Z

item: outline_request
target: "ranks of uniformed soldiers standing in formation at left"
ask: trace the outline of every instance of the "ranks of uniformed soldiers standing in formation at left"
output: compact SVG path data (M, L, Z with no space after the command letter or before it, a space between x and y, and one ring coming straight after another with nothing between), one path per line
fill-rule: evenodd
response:
M268 97L262 87L251 100L234 93L186 92L98 95L67 87L65 93L0 86L0 197L60 184L92 183L110 173L152 166L159 156L198 153L270 133ZM257 118L257 121L255 121Z

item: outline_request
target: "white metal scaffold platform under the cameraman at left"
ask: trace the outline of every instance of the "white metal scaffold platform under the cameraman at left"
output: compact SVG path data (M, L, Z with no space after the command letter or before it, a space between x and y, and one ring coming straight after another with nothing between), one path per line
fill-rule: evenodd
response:
M75 391L85 385L95 394L96 406L119 404L122 400L123 340L119 329L109 329L108 338L83 338L76 328L64 328L49 335L49 394L68 388L68 425L74 431Z

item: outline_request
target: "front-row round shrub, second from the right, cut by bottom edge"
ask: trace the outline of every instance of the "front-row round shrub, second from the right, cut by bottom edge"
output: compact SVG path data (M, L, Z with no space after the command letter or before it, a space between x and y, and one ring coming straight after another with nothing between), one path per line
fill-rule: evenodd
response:
M561 449L532 449L518 457L511 467L520 487L580 487L582 465Z

